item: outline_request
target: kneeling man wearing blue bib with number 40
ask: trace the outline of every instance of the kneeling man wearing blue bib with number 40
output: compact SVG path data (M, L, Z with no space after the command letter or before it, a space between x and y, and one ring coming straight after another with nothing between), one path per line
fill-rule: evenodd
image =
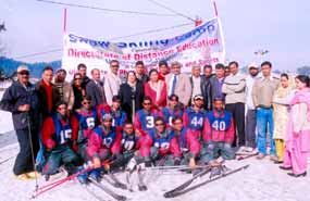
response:
M234 136L235 127L232 113L224 110L222 98L215 98L213 111L208 112L204 118L201 162L213 163L218 158L235 159L235 152L232 149Z

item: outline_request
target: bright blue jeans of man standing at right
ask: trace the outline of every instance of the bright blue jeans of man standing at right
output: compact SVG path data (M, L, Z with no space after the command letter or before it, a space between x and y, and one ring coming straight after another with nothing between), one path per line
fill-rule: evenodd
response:
M258 151L266 154L266 128L270 133L270 154L275 155L275 145L273 140L273 110L257 109L257 128L258 128ZM269 126L269 127L268 127Z

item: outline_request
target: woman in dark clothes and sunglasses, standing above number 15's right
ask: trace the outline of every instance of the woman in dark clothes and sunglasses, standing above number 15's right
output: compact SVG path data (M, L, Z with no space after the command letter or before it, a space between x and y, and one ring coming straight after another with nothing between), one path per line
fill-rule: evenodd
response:
M72 111L75 112L82 108L82 100L85 97L85 88L82 87L82 74L76 73L73 76L72 83L73 93L74 93L74 103Z

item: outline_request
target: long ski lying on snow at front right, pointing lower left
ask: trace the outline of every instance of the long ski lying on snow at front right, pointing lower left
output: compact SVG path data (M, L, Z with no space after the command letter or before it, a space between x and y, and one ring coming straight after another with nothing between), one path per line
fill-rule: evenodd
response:
M219 176L215 176L215 177L213 177L213 178L210 178L210 179L208 179L207 181L200 183L200 184L198 184L198 185L196 185L196 186L193 186L193 187L190 187L190 188L188 188L188 189L176 190L176 191L173 191L173 192L172 192L172 191L165 192L165 193L164 193L164 197L165 197L165 198L175 198L175 197L178 197L178 196L181 196L181 194L184 194L184 193L186 193L186 192L189 192L189 191L191 191L191 190L195 190L195 189L197 189L197 188L199 188L199 187L201 187L201 186L204 186L204 185L207 185L207 184L209 184L209 183L212 183L212 181L214 181L214 180L219 180L219 179L224 178L224 177L226 177L226 176L228 176L228 175L232 175L232 174L234 174L234 173L238 173L238 172L240 172L240 171L243 171L243 169L246 169L246 168L248 168L249 166L250 166L250 165L248 164L248 165L244 165L244 166L241 166L241 167L238 167L238 168L228 171L228 172L225 173L225 174L221 174L221 175L219 175Z

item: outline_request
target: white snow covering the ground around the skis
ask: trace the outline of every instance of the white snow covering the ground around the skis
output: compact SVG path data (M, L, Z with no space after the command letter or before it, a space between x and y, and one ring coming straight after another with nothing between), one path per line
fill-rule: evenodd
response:
M12 131L13 126L9 113L0 112L0 198L10 201L29 200L35 189L35 180L22 181L16 179L12 173L14 160L18 152L18 145L15 134ZM250 164L247 169L173 199L163 198L163 193L190 178L189 174L149 171L146 173L145 180L148 190L145 192L137 191L136 187L134 192L115 189L104 180L102 180L102 184L120 194L126 196L131 201L310 201L309 176L302 178L289 177L286 174L287 172L281 171L278 165L273 164L268 158L262 161L248 159L226 162L226 166L230 168L236 168L246 164ZM64 174L59 174L52 176L51 180L64 176ZM119 173L116 176L121 181L125 183L124 173ZM203 183L208 178L208 175L206 175L191 184L191 186ZM137 179L135 175L133 179ZM47 184L42 177L38 181L39 186ZM95 186L89 188L103 200L113 200ZM41 194L36 200L94 201L96 198L87 192L77 181L73 180Z

